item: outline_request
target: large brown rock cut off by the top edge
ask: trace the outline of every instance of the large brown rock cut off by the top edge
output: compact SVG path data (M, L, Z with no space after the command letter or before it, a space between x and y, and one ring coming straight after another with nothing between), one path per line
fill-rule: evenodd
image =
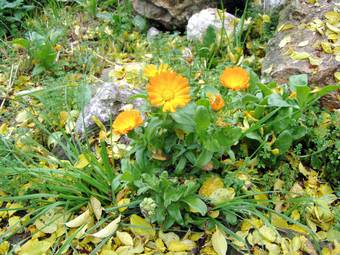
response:
M134 10L148 19L161 23L167 29L184 28L192 14L219 1L210 0L132 0Z

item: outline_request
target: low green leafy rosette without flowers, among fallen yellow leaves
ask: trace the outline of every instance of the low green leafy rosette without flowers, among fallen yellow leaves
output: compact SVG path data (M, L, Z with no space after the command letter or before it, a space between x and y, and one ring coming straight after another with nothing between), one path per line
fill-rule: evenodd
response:
M176 179L169 179L168 172L154 174L140 173L135 175L127 169L122 180L128 180L135 188L141 199L152 199L156 208L143 210L146 217L157 222L164 230L172 227L174 223L185 225L185 219L190 210L200 213L202 216L207 213L206 204L196 194L199 186L193 181L187 181L185 185L178 183ZM134 175L134 176L131 176ZM130 176L129 176L130 175ZM133 181L132 179L133 178Z

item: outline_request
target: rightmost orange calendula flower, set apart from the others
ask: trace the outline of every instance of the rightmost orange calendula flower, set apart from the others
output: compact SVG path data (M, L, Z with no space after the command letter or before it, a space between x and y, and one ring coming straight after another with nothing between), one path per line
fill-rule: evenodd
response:
M245 90L249 87L249 74L242 67L227 67L220 81L222 85L232 90Z

